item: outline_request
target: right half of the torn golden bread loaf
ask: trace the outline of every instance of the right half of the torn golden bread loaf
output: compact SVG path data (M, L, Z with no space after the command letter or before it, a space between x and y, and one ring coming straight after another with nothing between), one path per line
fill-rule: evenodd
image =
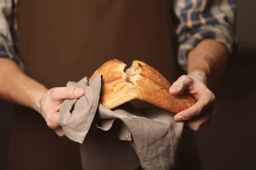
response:
M169 81L145 62L135 60L133 66L140 68L140 77L134 87L137 99L174 113L179 113L195 104L196 100L191 96L171 95Z

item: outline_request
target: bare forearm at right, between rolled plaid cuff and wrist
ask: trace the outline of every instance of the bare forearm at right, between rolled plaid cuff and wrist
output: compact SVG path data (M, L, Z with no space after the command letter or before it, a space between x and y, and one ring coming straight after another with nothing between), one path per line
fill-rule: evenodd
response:
M187 74L198 77L207 83L208 87L212 87L224 75L228 55L228 50L223 44L205 39L189 52Z

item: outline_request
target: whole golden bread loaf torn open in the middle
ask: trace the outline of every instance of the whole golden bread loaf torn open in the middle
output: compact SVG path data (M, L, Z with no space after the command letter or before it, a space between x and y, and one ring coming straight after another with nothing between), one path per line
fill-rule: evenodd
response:
M102 74L103 87L100 103L112 109L133 99L140 99L168 111L178 113L195 104L187 95L171 95L171 84L145 62L135 60L125 72L125 63L112 59L90 77Z

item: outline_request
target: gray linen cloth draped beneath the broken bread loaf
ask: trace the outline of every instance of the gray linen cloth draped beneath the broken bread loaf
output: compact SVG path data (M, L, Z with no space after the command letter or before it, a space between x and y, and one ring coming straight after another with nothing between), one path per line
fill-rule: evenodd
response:
M138 110L130 103L112 110L106 108L99 103L102 87L100 75L91 80L84 77L77 83L68 82L67 86L84 89L84 96L80 99L67 99L60 108L61 126L69 139L82 144L89 130L98 129L104 135L116 123L119 126L113 131L116 133L114 135L117 139L131 144L143 169L169 170L175 166L183 123L175 122L173 113L161 108ZM115 144L114 147L118 149L119 146ZM104 152L104 149L101 149L101 152ZM116 153L107 153L112 157L111 154ZM114 161L118 164L121 157L122 155L116 156L117 160ZM98 165L97 169L108 169L106 165L102 166L105 168Z

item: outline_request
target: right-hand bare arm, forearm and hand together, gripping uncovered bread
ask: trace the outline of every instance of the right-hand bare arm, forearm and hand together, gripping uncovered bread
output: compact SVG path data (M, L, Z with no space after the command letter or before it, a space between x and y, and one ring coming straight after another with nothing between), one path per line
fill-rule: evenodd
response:
M216 113L215 96L208 87L214 87L225 73L229 53L220 42L204 39L187 55L187 74L181 76L170 88L171 94L183 91L197 102L192 107L177 113L176 121L183 121L192 130L198 130ZM207 87L208 86L208 87Z

